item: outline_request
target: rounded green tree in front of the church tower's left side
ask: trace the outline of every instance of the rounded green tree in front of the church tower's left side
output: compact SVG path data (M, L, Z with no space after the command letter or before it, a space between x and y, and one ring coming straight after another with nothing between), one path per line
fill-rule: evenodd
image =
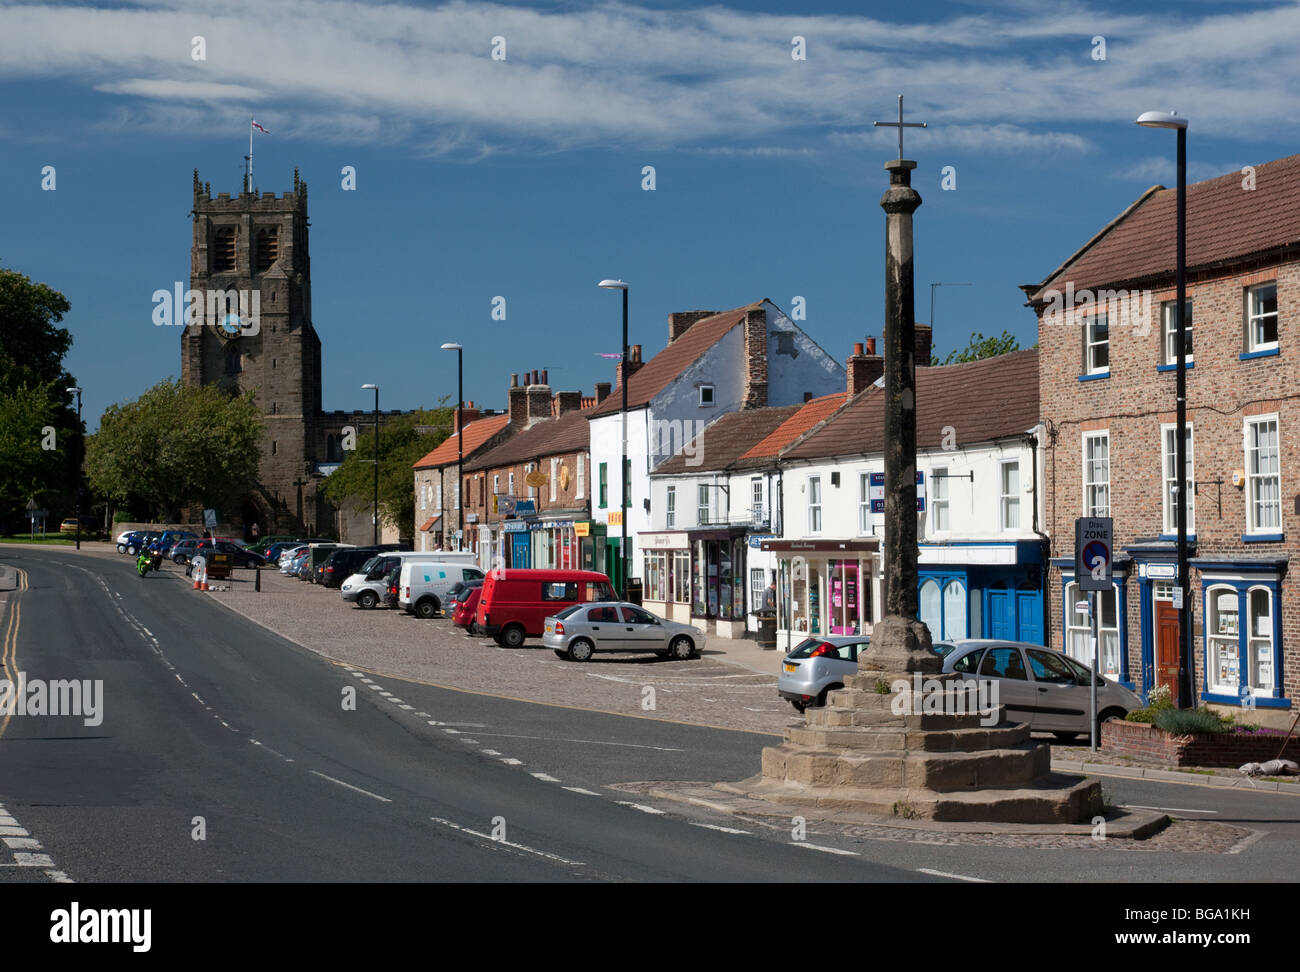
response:
M176 520L188 503L221 507L256 482L263 431L251 394L168 378L104 412L86 442L86 472L118 503Z

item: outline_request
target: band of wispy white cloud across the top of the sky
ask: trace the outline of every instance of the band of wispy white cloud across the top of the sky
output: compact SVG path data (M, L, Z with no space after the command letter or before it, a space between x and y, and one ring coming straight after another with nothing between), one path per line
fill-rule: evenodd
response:
M1091 58L1096 34L1106 61ZM195 35L205 61L191 60ZM506 61L489 56L498 35ZM1264 117L1270 134L1291 133L1297 40L1300 9L1280 0L1149 16L1018 0L937 22L628 3L18 3L0 5L0 79L82 83L147 127L176 107L209 127L254 110L277 134L467 157L593 144L780 152L774 139L790 133L818 151L874 138L904 88L909 116L932 126L909 133L918 147L1060 153L1091 151L1152 107L1228 138L1257 136Z

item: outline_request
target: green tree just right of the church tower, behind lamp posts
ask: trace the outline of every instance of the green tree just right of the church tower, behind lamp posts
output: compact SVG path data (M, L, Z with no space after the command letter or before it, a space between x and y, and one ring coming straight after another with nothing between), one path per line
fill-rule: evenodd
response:
M446 402L446 398L442 399ZM396 524L398 535L415 535L415 474L412 465L451 434L454 408L412 412L380 426L380 517ZM321 492L330 503L355 511L374 502L374 428L359 430L356 448L330 473Z

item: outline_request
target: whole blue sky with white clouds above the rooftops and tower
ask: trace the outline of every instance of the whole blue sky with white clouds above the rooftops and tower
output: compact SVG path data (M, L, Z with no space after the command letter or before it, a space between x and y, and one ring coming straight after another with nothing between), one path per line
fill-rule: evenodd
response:
M203 61L191 38L205 39ZM792 58L792 38L806 60ZM1096 60L1093 38L1105 38ZM493 38L506 58L491 58ZM1040 281L1153 183L1291 155L1295 3L325 3L0 0L0 265L73 304L86 417L179 374L151 295L186 281L191 170L311 186L326 408L455 396L503 407L511 372L612 379L616 294L659 351L671 311L807 304L833 356L881 331L883 164L906 96L919 162L916 318L1032 344ZM42 166L57 188L42 191ZM341 169L356 168L356 191ZM656 188L641 188L642 166ZM957 188L940 188L942 166ZM491 320L494 296L507 320Z

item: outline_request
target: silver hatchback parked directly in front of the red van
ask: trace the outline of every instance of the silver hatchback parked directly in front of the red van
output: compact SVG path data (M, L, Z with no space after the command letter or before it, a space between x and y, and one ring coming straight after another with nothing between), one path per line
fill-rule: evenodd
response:
M705 650L705 633L655 617L621 600L573 604L546 619L542 643L569 661L589 661L597 651L655 652L679 661Z

